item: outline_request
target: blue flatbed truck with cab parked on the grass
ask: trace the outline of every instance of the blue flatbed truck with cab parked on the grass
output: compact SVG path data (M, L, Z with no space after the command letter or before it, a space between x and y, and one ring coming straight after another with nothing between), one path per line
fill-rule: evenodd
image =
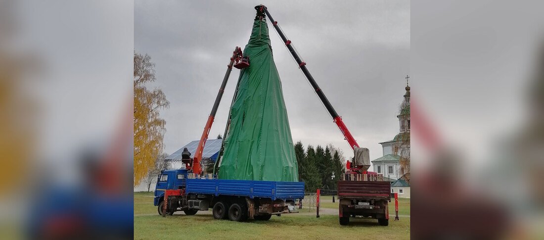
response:
M195 177L186 169L163 170L158 176L153 204L163 217L183 211L194 215L212 208L215 219L269 220L271 216L298 212L296 200L304 198L304 182L222 180Z

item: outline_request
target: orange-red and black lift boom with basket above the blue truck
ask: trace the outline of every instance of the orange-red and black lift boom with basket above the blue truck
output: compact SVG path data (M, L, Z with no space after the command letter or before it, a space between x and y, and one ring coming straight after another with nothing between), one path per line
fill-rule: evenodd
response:
M202 167L200 165L200 161L202 160L202 151L204 150L204 146L206 145L206 140L208 140L209 130L212 128L215 113L217 113L219 103L221 102L221 98L225 91L228 77L231 75L232 66L238 69L243 69L249 66L249 58L244 58L242 56L242 49L240 47L234 48L231 61L227 65L227 72L225 72L225 77L223 77L223 82L221 83L221 87L219 88L219 93L217 93L217 97L215 97L212 112L209 113L208 121L206 122L204 131L202 132L202 136L200 137L199 145L196 147L196 152L193 157L193 164L190 167L186 166L186 168L192 170L194 174L202 173Z

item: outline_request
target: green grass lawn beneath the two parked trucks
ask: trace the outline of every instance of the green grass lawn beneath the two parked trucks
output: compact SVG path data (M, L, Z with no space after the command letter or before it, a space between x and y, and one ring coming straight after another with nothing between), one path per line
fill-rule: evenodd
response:
M162 218L150 196L153 193L134 193L134 239L351 239L363 232L364 237L370 239L410 238L410 218L391 219L389 226L378 225L376 219L351 218L350 225L341 226L336 215L323 214L316 218L308 214L315 209L245 223L215 220L211 211L195 216L181 214ZM409 199L403 201L410 206ZM400 202L399 199L399 206ZM338 206L337 202L322 202L322 207L324 204L335 209Z

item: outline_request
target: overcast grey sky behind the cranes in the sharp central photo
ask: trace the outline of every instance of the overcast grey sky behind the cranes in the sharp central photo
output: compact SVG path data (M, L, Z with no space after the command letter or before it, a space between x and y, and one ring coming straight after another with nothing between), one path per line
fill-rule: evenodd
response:
M156 64L170 101L165 152L199 139L235 46L251 33L257 1L136 1L134 48ZM409 1L265 3L308 70L370 158L398 133L398 106L410 70ZM326 109L269 24L274 61L294 141L332 143L353 156ZM233 70L210 136L222 134L239 70Z

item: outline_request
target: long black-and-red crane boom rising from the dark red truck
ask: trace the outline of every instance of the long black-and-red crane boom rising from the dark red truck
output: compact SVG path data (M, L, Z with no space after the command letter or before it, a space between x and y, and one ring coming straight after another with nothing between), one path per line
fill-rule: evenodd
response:
M299 54L296 53L295 48L293 47L293 43L287 39L287 36L283 33L280 26L277 24L277 21L274 21L273 17L270 15L267 7L264 5L258 5L255 7L255 10L257 10L257 17L261 16L267 16L270 22L272 23L272 26L274 26L274 29L276 29L276 32L278 35L280 35L281 40L285 43L285 46L287 46L287 50L291 53L293 58L296 61L296 64L299 65L300 70L302 70L302 73L304 73L304 76L306 79L308 79L308 82L310 82L310 85L312 85L312 88L314 91L316 91L317 96L319 99L323 102L323 105L331 115L333 121L335 122L336 126L338 126L338 129L342 134L344 135L345 140L348 141L349 146L351 149L354 149L355 147L359 147L359 144L357 144L357 141L355 138L351 135L351 133L348 130L348 127L345 126L344 121L342 121L342 117L336 113L336 110L332 107L331 103L323 93L323 90L319 88L319 85L317 85L316 81L313 79L312 75L310 74L310 71L306 68L306 63L302 61Z

